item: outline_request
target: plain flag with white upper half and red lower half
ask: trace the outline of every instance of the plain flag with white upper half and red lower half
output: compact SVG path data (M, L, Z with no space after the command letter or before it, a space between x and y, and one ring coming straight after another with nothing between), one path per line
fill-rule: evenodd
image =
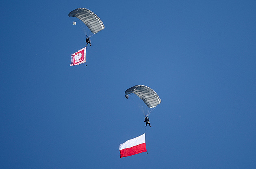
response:
M146 152L145 133L134 139L129 139L119 145L120 158Z

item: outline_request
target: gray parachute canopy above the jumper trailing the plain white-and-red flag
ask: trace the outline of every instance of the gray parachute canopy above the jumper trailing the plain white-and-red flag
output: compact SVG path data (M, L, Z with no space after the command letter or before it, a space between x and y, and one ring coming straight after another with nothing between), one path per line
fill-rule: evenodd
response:
M150 89L144 85L136 85L125 91L125 97L128 99L128 95L134 93L141 98L149 108L154 108L161 103L161 99L153 89Z

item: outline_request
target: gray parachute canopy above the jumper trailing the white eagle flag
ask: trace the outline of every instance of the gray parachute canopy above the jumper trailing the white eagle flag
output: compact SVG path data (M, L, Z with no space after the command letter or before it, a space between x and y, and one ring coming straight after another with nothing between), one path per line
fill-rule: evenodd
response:
M103 22L89 9L77 8L74 11L71 11L68 16L80 19L83 23L85 23L85 25L87 25L93 34L96 34L104 29Z

